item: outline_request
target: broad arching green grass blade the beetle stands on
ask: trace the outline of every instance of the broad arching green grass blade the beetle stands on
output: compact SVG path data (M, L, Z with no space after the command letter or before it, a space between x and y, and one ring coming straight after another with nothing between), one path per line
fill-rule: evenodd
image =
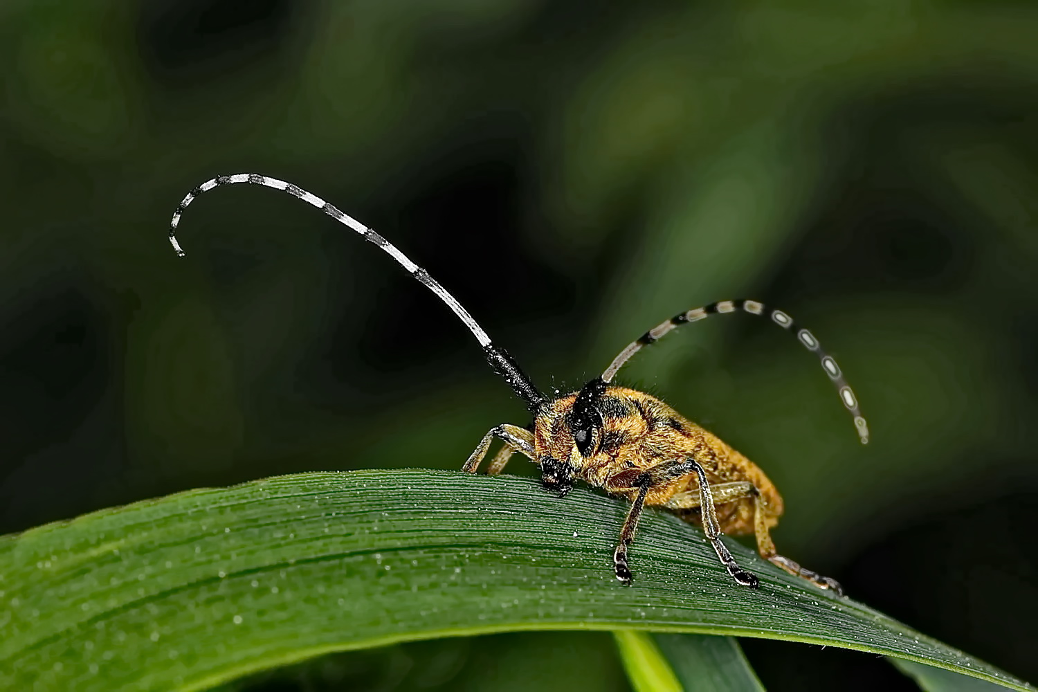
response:
M0 689L200 690L326 652L510 630L770 637L1025 683L734 542L649 511L622 586L623 502L531 479L380 470L198 490L0 538Z

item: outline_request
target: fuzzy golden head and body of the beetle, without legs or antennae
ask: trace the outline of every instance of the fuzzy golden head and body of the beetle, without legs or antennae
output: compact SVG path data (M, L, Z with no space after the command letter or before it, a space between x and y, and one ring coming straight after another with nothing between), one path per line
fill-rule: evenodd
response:
M574 392L555 399L535 420L534 451L538 458L567 460L576 469L574 475L579 480L633 500L638 489L632 481L638 475L663 462L690 456L706 471L711 486L748 481L760 492L759 500L749 496L715 504L723 533L754 532L755 501L761 502L768 528L778 523L782 496L759 466L663 402L636 389L606 388L599 407L603 412L599 449L586 459L579 459L580 452L567 425L576 397ZM702 524L698 507L667 506L676 495L695 495L699 489L698 474L689 472L650 488L645 503L665 507L686 521Z

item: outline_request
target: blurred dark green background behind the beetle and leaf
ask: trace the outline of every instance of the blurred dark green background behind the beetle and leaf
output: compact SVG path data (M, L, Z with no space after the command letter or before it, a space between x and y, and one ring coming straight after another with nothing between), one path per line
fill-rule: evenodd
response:
M542 388L621 380L782 490L780 550L1038 681L1038 6L148 0L0 8L0 532L199 486L459 468L523 407L390 258ZM512 473L530 473L516 461ZM619 530L619 527L618 527ZM634 548L636 555L636 547ZM603 558L605 559L605 558ZM603 562L603 570L607 569ZM745 641L770 689L911 689ZM625 690L605 635L329 657L239 689Z

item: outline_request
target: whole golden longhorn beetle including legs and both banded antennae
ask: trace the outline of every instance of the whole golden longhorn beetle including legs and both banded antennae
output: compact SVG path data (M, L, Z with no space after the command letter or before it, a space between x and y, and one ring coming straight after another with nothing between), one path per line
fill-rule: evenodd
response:
M491 441L498 438L504 446L490 462L488 472L491 475L500 473L518 451L540 467L544 487L557 493L559 497L565 496L576 480L583 480L611 495L631 500L612 557L617 579L621 582L631 583L627 548L634 538L638 518L645 506L650 505L663 507L686 521L701 525L728 574L743 586L756 588L759 581L755 575L736 563L728 548L720 542L722 532L755 533L761 557L792 575L843 596L840 584L835 580L801 568L775 551L770 529L778 523L783 500L774 485L756 464L658 398L611 384L617 371L631 356L643 347L658 341L667 332L681 325L705 320L711 314L742 310L767 316L778 327L794 333L800 343L819 357L822 369L836 384L840 398L854 418L862 443L868 443L868 424L862 417L857 399L837 362L831 356L825 355L811 332L796 326L788 314L782 310L765 308L762 303L750 300L720 301L679 312L629 343L609 363L601 377L585 384L580 391L549 398L429 272L408 259L389 241L371 228L291 183L254 173L220 175L202 183L188 193L176 207L169 224L169 242L177 255L184 256L184 250L176 242L176 226L184 210L202 192L235 183L250 183L282 190L317 206L391 255L411 276L454 310L483 347L491 367L526 403L534 416L532 422L526 427L508 423L492 427L480 440L462 470L475 473Z

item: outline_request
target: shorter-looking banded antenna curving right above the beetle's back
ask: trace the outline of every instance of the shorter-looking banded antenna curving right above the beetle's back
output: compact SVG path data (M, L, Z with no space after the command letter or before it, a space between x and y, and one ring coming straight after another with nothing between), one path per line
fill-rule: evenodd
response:
M793 324L792 317L782 310L766 308L763 303L758 303L757 301L719 301L704 307L698 307L693 310L679 312L666 322L656 325L637 339L628 343L627 348L621 351L620 355L612 359L612 362L609 363L609 367L605 368L605 372L602 373L602 381L605 383L611 382L612 378L616 377L617 371L623 367L624 363L630 360L631 356L636 354L638 351L641 351L643 347L655 343L659 339L663 338L664 334L677 329L681 325L689 322L706 320L707 316L711 314L734 312L736 310L743 310L744 312L749 312L750 314L767 315L771 317L771 322L775 323L783 329L796 334L797 340L799 340L800 343L808 349L808 351L812 351L818 356L822 364L822 369L825 370L825 375L829 376L829 380L832 381L832 384L837 387L837 391L840 393L840 400L843 402L844 407L854 418L854 427L857 431L858 438L862 440L862 444L868 444L869 424L866 422L865 417L862 416L862 410L857 406L857 397L854 396L854 392L851 391L850 385L848 385L847 381L844 379L843 371L840 369L840 366L837 365L837 361L832 358L832 356L826 355L825 352L822 351L822 347L818 343L818 339L815 338L814 334L809 332L807 329L801 329L797 325Z

